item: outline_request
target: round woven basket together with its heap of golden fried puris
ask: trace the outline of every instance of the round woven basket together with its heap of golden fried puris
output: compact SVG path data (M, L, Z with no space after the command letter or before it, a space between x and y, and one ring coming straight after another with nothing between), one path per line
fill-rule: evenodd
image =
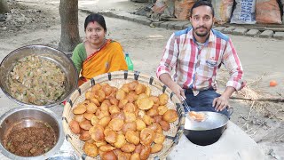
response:
M116 71L73 92L62 120L83 159L164 159L182 135L185 111L158 79Z

